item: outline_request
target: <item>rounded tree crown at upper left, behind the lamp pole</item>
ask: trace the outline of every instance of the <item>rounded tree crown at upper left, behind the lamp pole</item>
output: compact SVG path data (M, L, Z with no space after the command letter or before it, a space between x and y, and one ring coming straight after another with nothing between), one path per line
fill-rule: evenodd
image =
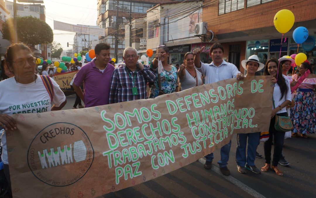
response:
M2 25L3 39L14 42L14 34L17 32L19 42L29 47L38 44L48 44L53 41L53 30L44 21L33 16L17 16L17 31L14 29L14 19L9 18Z

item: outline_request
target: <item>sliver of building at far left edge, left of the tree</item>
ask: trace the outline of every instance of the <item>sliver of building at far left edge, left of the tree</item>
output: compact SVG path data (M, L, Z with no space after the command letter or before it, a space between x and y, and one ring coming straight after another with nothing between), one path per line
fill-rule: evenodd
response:
M10 17L10 11L6 9L5 1L0 0L0 61L4 59L4 54L10 46L8 40L3 39L2 24Z

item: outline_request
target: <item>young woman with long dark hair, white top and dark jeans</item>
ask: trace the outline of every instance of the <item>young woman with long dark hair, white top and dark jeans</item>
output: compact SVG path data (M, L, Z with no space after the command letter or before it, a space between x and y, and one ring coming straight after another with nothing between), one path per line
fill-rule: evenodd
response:
M272 96L273 109L269 128L270 137L264 142L265 164L261 168L261 171L267 172L271 167L271 169L276 172L276 175L283 176L283 172L278 169L277 165L282 156L285 131L283 132L279 127L276 129L275 122L276 116L288 116L288 113L286 112L286 106L292 101L290 83L289 80L282 76L282 68L279 67L279 61L277 59L272 58L267 61L264 74L271 75L276 78L277 83L275 84ZM274 152L271 166L271 148L273 138Z

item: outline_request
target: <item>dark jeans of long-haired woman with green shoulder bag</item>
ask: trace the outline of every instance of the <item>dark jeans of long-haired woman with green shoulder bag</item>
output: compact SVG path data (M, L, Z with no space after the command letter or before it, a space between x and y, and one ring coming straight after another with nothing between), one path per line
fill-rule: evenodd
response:
M288 114L285 113L278 113L276 114L278 116L287 116ZM283 149L283 143L284 143L284 132L276 131L274 128L275 123L275 116L270 121L270 128L269 128L269 139L264 142L264 156L265 156L265 163L270 164L271 163L271 149L272 149L272 141L274 138L274 152L273 152L273 160L272 160L272 166L277 166L277 164L280 161L280 158L282 157L282 149Z

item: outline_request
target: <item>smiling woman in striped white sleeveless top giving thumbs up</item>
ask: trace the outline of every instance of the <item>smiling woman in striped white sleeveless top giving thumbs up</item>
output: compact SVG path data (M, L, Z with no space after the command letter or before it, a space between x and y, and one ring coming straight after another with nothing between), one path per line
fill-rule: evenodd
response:
M192 52L187 52L184 55L184 61L179 67L178 76L181 91L203 84L202 73L194 68L194 55Z

